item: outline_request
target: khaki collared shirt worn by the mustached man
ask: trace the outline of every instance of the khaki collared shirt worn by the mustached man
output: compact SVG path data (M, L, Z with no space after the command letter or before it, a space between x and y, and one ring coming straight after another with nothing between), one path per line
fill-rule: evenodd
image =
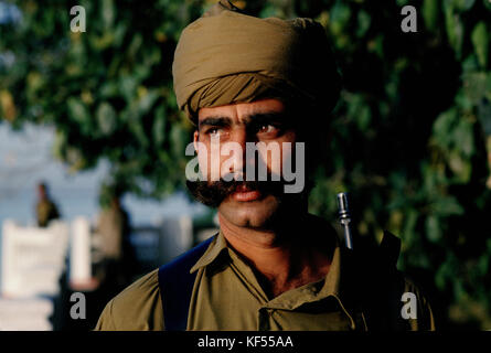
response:
M253 269L218 233L191 269L198 274L186 330L367 330L365 313L344 300L342 263L338 245L325 278L268 299ZM417 319L406 320L407 330L434 330L426 299L410 281L404 287L417 297ZM95 330L164 330L164 314L156 269L109 301Z

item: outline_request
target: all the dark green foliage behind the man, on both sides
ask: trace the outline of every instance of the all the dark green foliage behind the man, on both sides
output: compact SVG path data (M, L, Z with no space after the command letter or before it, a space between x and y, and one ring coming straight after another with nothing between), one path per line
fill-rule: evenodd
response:
M56 156L74 171L107 159L108 185L153 197L182 188L191 126L175 105L172 55L213 2L15 2L22 19L0 22L0 116L55 125ZM424 285L441 325L490 329L491 3L235 3L314 18L332 40L344 89L311 211L333 218L335 194L350 191L362 236L401 236L399 267ZM85 33L68 30L74 4L86 9ZM406 4L417 33L401 30Z

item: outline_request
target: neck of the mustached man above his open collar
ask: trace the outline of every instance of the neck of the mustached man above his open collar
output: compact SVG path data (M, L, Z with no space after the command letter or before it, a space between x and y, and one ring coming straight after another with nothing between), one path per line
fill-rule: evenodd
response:
M218 218L225 239L253 267L268 297L318 280L329 270L329 256L316 249L295 225L255 229L235 226L220 213Z

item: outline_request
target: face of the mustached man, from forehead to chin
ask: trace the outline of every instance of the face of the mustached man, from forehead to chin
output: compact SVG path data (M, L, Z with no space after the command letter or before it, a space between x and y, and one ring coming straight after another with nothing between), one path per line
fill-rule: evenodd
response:
M291 197L285 195L282 183L270 180L271 175L282 178L297 139L291 118L278 99L200 109L194 145L206 188L216 191L222 217L241 227L268 228L281 210L295 206L285 202ZM250 146L261 148L257 154L247 153ZM266 168L268 181L259 179L259 165Z

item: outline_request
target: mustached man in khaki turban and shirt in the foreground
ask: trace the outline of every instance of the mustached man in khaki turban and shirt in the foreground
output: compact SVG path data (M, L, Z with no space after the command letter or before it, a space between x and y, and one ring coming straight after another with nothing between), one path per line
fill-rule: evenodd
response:
M319 162L340 90L320 24L257 19L222 1L183 31L173 75L196 124L200 178L188 185L217 207L220 233L128 287L96 330L434 328L425 298L387 260L393 254L354 256L307 212L303 176Z

